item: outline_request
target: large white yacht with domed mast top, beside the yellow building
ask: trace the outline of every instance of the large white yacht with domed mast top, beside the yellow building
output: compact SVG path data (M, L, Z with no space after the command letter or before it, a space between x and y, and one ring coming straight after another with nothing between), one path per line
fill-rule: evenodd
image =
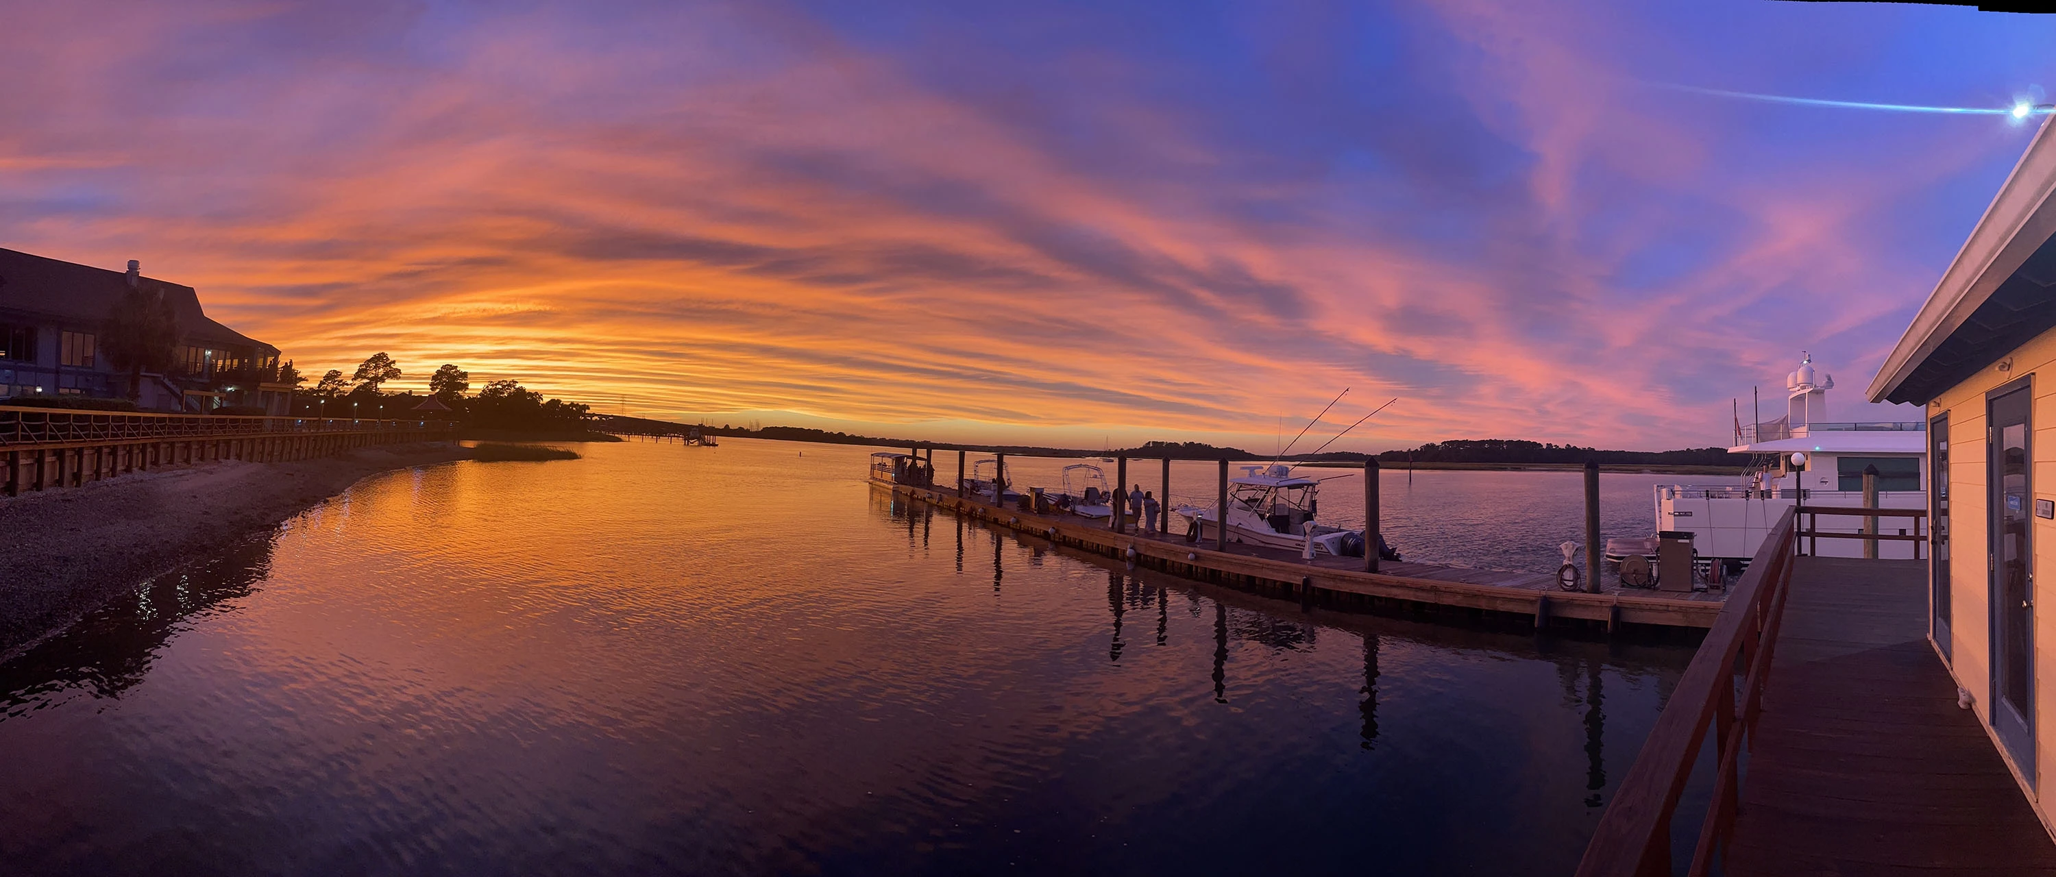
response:
M1655 524L1659 532L1690 534L1700 563L1721 563L1737 571L1762 546L1770 526L1795 503L1863 505L1863 472L1877 468L1877 505L1924 509L1929 472L1926 423L1830 421L1828 390L1834 376L1813 368L1807 355L1785 376L1789 392L1783 417L1739 425L1733 454L1752 454L1741 483L1657 485ZM1754 419L1754 417L1752 417ZM1822 532L1863 532L1867 518L1820 516ZM1805 526L1807 522L1801 522ZM1912 534L1914 518L1881 518L1881 534ZM1680 536L1682 538L1682 536ZM1877 557L1912 559L1918 542L1879 540ZM1647 550L1635 550L1645 546ZM1863 540L1813 538L1807 552L1822 557L1863 557ZM1655 540L1610 540L1606 559L1655 552Z

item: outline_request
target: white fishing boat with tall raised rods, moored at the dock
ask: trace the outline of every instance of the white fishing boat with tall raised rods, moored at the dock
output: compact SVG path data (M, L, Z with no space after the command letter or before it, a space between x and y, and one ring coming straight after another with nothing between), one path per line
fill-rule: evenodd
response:
M1291 474L1291 466L1242 466L1242 476L1227 479L1227 540L1266 548L1306 550L1316 555L1363 557L1363 530L1345 530L1314 522L1320 481ZM1186 528L1197 528L1201 540L1219 538L1219 513L1213 507L1180 505ZM1398 561L1390 548L1380 552Z

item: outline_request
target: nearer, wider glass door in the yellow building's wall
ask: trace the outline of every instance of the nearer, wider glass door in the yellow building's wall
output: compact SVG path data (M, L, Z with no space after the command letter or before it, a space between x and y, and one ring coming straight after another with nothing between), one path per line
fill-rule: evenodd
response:
M2035 776L2035 678L2033 678L2033 569L2027 544L2033 522L2029 493L2027 411L2033 396L2025 382L1988 396L1992 522L1992 729L2013 754L2013 764Z

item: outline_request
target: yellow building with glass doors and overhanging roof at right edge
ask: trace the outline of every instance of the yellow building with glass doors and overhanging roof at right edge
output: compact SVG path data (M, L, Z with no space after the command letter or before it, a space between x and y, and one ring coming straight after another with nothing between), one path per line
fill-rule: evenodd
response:
M1929 635L2056 826L2056 123L2044 123L1871 382L1929 415ZM1984 563L1978 563L1984 561Z

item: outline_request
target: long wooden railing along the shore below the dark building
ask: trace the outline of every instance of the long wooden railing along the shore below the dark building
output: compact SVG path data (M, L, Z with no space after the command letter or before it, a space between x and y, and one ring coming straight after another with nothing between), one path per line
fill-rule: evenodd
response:
M436 419L222 417L0 405L0 448L214 435L448 429L450 423Z

